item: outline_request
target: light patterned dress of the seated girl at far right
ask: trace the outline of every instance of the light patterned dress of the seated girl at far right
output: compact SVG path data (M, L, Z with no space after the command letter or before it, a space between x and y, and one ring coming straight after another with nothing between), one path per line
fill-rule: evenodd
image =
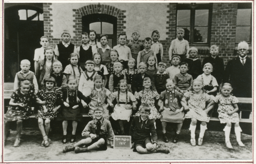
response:
M220 119L221 124L232 122L239 122L239 114L237 112L232 115L227 113L234 110L233 104L238 103L238 99L235 96L231 96L228 99L225 99L221 94L217 95L214 98L214 102L218 103L218 118Z

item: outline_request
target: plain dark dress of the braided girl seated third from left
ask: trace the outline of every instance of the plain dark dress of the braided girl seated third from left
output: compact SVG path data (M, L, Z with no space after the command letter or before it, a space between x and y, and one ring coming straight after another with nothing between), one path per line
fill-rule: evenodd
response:
M61 111L59 112L56 120L74 120L81 122L82 121L82 115L81 115L81 109L83 108L81 104L81 100L84 100L86 102L87 98L79 91L77 90L77 97L80 99L80 102L76 102L76 90L66 90L63 92L63 99L66 102L68 94L68 100L69 100L69 107L66 107L63 105ZM78 108L73 109L72 107L75 105L79 105Z

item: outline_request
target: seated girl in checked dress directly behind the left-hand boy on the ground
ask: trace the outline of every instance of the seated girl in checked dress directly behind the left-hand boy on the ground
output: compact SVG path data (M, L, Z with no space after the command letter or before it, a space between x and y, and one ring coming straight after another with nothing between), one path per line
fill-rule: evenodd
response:
M110 105L111 107L113 107L111 92L108 89L102 87L103 85L102 76L96 75L93 79L93 82L94 82L94 87L91 89L91 93L89 93L91 102L89 103L90 110L88 115L94 119L95 116L94 116L93 109L96 106L102 106L104 108L104 117L106 119L109 119L108 106ZM106 100L108 104L105 104Z

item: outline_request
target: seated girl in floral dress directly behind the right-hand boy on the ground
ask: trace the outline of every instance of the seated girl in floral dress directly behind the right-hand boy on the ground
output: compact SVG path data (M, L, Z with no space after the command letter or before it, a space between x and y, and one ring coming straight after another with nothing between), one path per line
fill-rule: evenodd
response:
M143 90L139 93L135 92L135 98L141 101L141 105L139 107L139 111L135 114L136 116L140 116L140 109L143 105L148 105L150 107L150 115L149 119L160 119L161 115L158 113L157 108L155 107L155 101L159 99L160 95L157 91L153 91L151 89L152 83L149 77L145 77L143 79ZM136 102L137 104L138 102ZM155 122L154 122L155 124Z

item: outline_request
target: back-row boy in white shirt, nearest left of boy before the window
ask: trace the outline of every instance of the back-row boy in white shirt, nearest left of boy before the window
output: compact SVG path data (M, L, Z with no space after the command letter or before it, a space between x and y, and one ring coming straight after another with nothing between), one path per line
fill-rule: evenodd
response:
M151 50L156 53L157 56L157 64L163 59L163 45L158 42L160 38L159 31L154 30L151 34L152 42L151 42Z

